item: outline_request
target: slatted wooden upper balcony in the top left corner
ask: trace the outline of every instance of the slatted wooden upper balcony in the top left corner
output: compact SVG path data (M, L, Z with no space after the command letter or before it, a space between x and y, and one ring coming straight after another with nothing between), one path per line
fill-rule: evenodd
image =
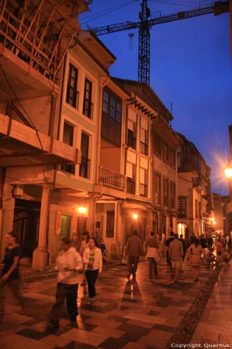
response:
M59 93L59 68L79 29L77 20L68 14L71 3L67 0L63 6L54 6L49 0L29 0L19 6L17 2L1 1L1 98L10 99L8 82L20 99ZM63 38L66 43L61 46Z

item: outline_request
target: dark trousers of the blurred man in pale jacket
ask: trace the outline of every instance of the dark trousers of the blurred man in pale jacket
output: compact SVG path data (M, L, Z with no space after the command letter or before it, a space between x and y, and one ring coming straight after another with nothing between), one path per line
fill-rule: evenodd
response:
M77 290L78 283L75 285L67 285L65 283L57 283L56 285L56 303L52 307L49 315L49 322L53 325L59 326L61 320L63 303L66 299L68 315L70 318L77 316Z

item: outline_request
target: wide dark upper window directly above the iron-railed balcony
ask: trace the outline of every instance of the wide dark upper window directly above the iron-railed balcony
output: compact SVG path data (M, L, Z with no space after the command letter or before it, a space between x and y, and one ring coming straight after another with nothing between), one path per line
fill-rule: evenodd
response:
M101 135L116 146L121 146L122 101L110 89L103 90Z

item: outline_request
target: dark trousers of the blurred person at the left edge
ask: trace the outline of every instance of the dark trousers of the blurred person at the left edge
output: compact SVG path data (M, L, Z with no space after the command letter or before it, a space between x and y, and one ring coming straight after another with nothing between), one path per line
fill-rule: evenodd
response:
M5 298L7 293L7 288L10 288L13 292L13 295L20 302L20 306L24 307L24 299L22 297L21 290L21 281L17 280L7 280L0 283L0 317L3 318L4 309L5 309Z

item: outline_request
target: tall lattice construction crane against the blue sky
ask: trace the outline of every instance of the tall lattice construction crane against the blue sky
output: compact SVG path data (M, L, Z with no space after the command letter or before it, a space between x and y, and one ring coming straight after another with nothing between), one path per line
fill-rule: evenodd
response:
M212 6L196 8L194 10L181 11L173 15L166 15L151 18L150 9L148 8L148 0L142 0L141 11L139 11L139 22L121 22L110 24L103 27L93 28L91 31L96 35L105 35L139 28L139 65L138 65L138 81L150 84L150 28L153 25L173 22L176 20L185 20L187 18L198 17L201 15L221 15L229 12L230 2L232 0L215 1Z

